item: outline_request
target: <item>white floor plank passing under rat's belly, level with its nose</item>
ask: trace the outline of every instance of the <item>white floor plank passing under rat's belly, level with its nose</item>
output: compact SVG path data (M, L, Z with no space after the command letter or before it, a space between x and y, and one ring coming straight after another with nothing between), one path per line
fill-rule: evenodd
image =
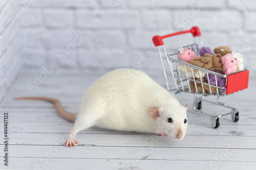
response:
M39 117L38 118L44 118ZM51 117L48 117L51 119ZM9 121L9 132L33 132L33 133L69 133L74 127L72 122L15 122ZM3 132L0 129L0 132ZM211 128L210 124L198 124L188 128L187 135L216 135L216 136L256 136L256 127L247 125L221 125L218 129ZM134 134L122 131L92 128L80 133L108 133L108 134ZM136 133L136 132L135 132ZM145 133L142 133L145 134Z

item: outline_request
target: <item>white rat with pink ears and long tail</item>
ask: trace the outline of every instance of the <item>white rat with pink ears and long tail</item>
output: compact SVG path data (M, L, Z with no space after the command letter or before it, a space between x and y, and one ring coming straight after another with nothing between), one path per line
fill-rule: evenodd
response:
M99 78L84 95L77 114L64 110L56 99L15 98L23 99L52 102L62 117L75 121L68 139L62 143L67 147L79 144L75 135L92 126L169 135L178 140L187 129L187 106L181 106L172 94L135 69L116 69Z

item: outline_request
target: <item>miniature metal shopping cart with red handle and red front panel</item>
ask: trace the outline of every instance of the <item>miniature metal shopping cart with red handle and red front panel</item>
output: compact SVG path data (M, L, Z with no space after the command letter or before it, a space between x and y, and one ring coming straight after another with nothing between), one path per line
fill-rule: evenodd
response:
M200 97L196 98L194 101L193 110L188 110L188 112L210 116L210 122L213 128L218 128L220 126L219 118L228 114L231 114L233 122L237 122L239 120L238 109L227 106L225 103L220 102L220 96L225 96L246 89L248 87L249 71L244 69L242 71L234 72L230 75L222 75L218 72L207 70L179 60L178 52L174 54L168 54L166 52L166 48L164 47L163 39L186 33L191 33L195 37L196 43L183 46L183 48L189 47L198 55L199 49L203 46L201 33L198 27L193 27L187 31L181 31L164 36L156 35L153 37L153 42L157 47L160 55L167 90L170 91L173 95L179 92L200 94ZM183 68L183 71L181 71L181 67ZM188 76L188 72L190 72L192 76ZM199 78L196 78L196 74L199 75ZM214 76L216 82L210 83L209 76ZM168 81L170 78L172 78L174 81L173 89L171 89L172 87ZM220 86L217 82L217 78L225 79L225 85ZM210 95L217 96L217 102L204 99ZM229 108L231 111L220 115L206 113L204 110L201 110L202 101Z

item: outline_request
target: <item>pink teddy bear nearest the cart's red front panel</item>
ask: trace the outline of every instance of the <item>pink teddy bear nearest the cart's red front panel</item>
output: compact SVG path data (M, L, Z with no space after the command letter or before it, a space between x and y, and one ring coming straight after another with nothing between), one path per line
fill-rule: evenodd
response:
M222 57L223 70L225 75L229 75L237 70L238 60L231 54L226 54Z

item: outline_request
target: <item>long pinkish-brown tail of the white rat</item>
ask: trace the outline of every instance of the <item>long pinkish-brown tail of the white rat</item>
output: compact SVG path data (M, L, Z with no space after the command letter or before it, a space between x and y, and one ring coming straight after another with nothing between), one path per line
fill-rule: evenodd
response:
M45 98L45 97L22 97L22 98L14 98L13 100L42 100L42 101L51 102L51 103L55 104L55 108L61 117L65 118L67 120L70 120L72 122L74 122L76 120L76 114L66 111L61 106L60 101L57 99Z

